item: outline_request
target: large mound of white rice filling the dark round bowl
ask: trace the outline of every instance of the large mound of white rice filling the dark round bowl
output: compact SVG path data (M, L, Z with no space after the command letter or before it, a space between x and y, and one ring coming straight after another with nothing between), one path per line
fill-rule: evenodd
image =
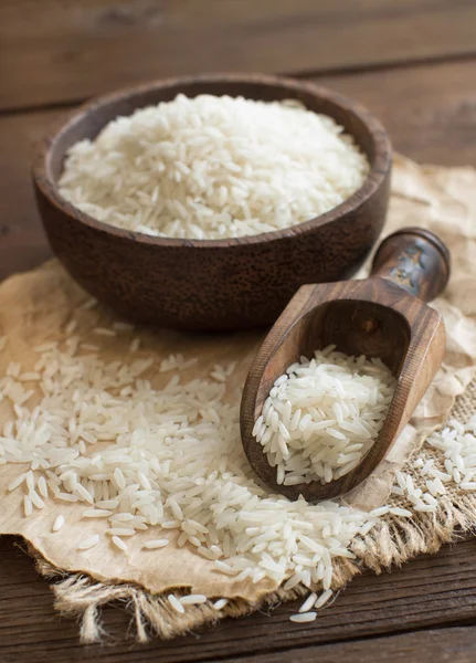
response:
M180 94L74 145L60 191L83 212L129 231L220 239L327 212L368 172L341 126L295 101Z

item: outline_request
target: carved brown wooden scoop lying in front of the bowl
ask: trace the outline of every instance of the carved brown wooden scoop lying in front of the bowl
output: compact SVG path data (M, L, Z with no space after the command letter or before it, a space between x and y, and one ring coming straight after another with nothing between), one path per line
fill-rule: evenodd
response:
M408 423L445 352L443 318L431 302L449 276L449 252L432 232L405 228L388 236L373 259L370 278L304 285L289 302L258 350L243 391L241 434L256 474L292 499L342 495L377 467ZM359 465L321 484L279 485L253 427L275 380L304 355L334 344L348 355L379 357L398 377L385 421Z

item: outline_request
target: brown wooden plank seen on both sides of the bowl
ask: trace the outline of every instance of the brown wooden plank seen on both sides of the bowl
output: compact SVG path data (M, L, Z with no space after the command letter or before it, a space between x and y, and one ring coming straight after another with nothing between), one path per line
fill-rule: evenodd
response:
M326 76L367 105L394 147L417 161L476 166L476 61L359 76ZM442 94L444 90L444 94ZM30 185L33 145L65 110L0 117L0 278L31 269L50 253Z

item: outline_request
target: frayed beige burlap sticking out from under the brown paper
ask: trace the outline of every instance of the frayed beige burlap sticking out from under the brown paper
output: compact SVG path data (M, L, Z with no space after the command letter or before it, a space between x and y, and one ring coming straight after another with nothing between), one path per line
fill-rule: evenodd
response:
M449 418L465 421L475 411L476 381L456 399ZM403 470L411 472L412 461ZM403 497L393 498L392 503L406 506ZM356 559L340 559L336 565L332 589L341 589L364 569L380 573L422 552L436 552L443 544L455 540L462 533L470 530L474 527L475 514L476 494L452 488L447 495L440 498L437 511L433 514L415 513L411 519L398 516L382 518L378 526L353 543ZM146 642L151 634L171 639L213 624L225 617L242 617L309 592L305 587L297 587L290 591L279 588L260 602L231 600L222 610L216 611L213 601L208 601L201 606L189 606L184 614L179 614L165 596L152 596L130 583L107 585L84 573L65 573L52 567L33 548L30 548L30 554L36 559L38 571L56 580L52 585L56 610L64 615L81 619L81 639L85 643L97 642L105 635L101 609L113 602L126 606L133 615L136 639Z

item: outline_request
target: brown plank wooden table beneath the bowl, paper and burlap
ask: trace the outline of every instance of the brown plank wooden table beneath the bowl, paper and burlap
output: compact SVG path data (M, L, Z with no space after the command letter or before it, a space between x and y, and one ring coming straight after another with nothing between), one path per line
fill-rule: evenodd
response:
M0 277L50 255L30 186L32 146L94 94L184 73L286 73L366 104L419 161L476 166L475 63L470 0L2 0ZM0 541L1 663L476 660L469 539L358 578L311 624L290 624L287 603L272 618L137 645L119 606L105 610L103 646L78 644L77 625L54 613L19 544Z

